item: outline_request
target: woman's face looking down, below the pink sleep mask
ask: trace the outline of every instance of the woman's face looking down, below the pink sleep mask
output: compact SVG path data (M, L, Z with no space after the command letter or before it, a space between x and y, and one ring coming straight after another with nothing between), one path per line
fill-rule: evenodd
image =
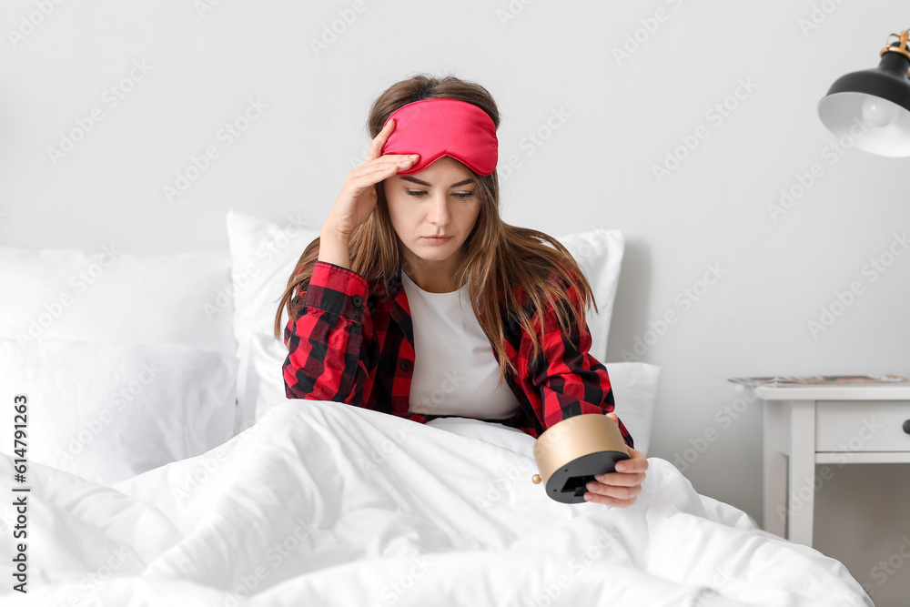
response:
M445 276L454 272L461 246L480 214L480 194L473 177L457 160L441 157L418 173L385 179L389 217L411 267ZM450 238L442 242L428 239L433 236Z

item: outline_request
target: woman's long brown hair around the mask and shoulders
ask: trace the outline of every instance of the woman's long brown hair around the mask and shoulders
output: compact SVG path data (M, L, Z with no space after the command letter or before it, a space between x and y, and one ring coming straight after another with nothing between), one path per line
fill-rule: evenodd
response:
M379 135L386 120L399 107L421 99L440 97L460 99L480 107L499 128L499 110L483 86L456 76L418 75L389 86L376 98L369 111L370 138ZM451 160L458 162L454 158ZM496 171L484 176L463 164L462 167L470 172L477 184L475 193L479 197L480 213L463 244L465 263L453 278L451 290L468 285L474 315L500 360L499 386L507 372L518 372L506 353L503 319L511 316L531 335L531 360L534 360L541 351L543 340L541 321L533 321L535 310L556 309L560 330L565 334L571 330L572 322L584 326L584 310L588 302L593 303L595 310L597 303L578 263L556 238L539 230L519 228L502 221ZM377 184L375 209L367 221L350 235L350 269L370 284L379 281L387 286L393 282L400 285L399 272L402 271L404 257L399 248L403 245L389 218L389 207L381 186L381 182ZM550 246L544 243L550 243ZM288 278L288 286L275 315L276 338L281 338L282 309L288 309L290 322L296 319L303 303L302 293L308 288L318 258L319 238L316 238L304 249ZM521 301L515 293L519 286L525 296ZM573 297L570 290L574 291Z

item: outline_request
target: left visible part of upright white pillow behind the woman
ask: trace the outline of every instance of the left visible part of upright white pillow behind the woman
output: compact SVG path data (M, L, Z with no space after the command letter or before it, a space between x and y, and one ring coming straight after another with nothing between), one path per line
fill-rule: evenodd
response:
M247 387L249 340L254 333L272 333L278 300L288 286L288 278L303 250L319 237L319 229L305 228L305 223L298 216L289 217L285 226L278 226L267 219L227 211L241 418L250 418L256 403L255 393L248 394ZM282 309L282 331L287 324L288 312Z

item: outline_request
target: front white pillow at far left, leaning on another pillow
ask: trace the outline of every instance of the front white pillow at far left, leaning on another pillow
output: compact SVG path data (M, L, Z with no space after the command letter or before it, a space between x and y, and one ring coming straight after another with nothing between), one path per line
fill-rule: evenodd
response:
M233 435L237 358L176 344L0 339L0 401L27 396L27 458L112 484ZM12 413L0 450L15 450Z

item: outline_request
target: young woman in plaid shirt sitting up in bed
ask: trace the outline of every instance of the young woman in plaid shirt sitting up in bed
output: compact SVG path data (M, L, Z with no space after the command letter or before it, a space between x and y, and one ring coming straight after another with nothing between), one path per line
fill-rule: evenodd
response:
M498 126L490 93L454 76L415 76L376 99L366 161L278 306L276 337L288 309L288 398L420 423L487 420L535 438L565 418L606 414L631 458L584 497L629 506L648 460L588 351L591 286L555 238L501 220Z

